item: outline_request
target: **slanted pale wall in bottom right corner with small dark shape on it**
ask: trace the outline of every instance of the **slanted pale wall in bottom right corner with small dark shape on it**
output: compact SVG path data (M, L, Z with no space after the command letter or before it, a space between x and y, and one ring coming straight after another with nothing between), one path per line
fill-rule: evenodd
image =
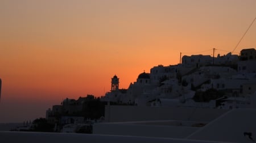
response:
M255 109L230 110L187 138L192 140L254 142L247 136L245 137L243 132L251 132L252 137L256 140L255 121Z

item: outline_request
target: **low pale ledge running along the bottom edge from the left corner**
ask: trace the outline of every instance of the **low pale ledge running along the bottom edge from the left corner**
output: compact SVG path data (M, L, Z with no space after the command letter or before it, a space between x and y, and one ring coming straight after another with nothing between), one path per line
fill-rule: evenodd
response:
M13 143L13 142L36 142L36 143L56 143L56 142L122 142L122 143L141 143L141 142L161 142L161 143L196 143L196 142L210 142L211 141L198 141L187 140L178 138L159 138L159 137L134 137L134 136L106 136L100 134L80 134L80 133L39 133L39 132L0 132L0 142Z

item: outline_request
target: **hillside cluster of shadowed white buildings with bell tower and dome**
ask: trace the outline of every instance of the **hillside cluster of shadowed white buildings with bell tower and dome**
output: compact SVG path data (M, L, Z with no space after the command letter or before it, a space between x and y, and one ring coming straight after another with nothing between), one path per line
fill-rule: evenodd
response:
M119 89L119 78L114 75L112 90L101 100L136 106L252 106L251 97L256 91L256 51L243 49L240 54L183 56L181 64L158 65L150 73L139 74L127 89ZM205 98L202 94L209 94L209 99L202 100Z

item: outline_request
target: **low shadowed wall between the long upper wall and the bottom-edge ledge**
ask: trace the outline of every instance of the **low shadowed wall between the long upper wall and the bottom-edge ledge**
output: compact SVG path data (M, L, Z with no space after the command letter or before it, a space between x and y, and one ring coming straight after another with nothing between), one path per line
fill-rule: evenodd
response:
M197 131L197 129L199 129L199 127L133 123L98 123L93 125L93 134L184 138Z

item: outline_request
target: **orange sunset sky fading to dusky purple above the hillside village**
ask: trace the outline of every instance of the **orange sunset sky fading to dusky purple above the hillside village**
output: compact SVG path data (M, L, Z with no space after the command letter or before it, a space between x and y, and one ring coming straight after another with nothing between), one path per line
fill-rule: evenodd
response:
M178 64L180 52L231 52L255 16L255 0L1 0L0 123L102 96L114 74L127 88L144 70ZM234 54L255 39L256 22Z

